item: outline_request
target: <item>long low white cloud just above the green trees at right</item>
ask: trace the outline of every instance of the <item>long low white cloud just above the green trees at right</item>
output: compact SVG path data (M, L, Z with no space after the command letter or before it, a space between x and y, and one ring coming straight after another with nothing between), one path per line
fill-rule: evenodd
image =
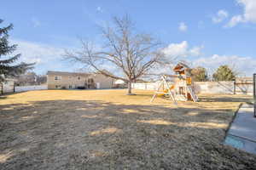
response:
M201 57L193 61L195 66L204 66L210 71L214 71L219 65L230 65L235 67L236 71L242 75L252 75L256 68L256 59L252 57L242 57L238 55L218 55L213 54L210 57Z

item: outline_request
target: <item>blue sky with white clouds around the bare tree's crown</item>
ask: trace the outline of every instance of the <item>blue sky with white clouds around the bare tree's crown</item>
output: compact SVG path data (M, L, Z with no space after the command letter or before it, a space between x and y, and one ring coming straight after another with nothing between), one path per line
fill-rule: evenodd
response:
M37 62L34 71L78 71L62 59L79 48L79 38L101 45L98 26L128 14L139 31L166 45L167 56L214 71L230 65L241 76L256 72L256 0L22 0L3 1L0 26L14 24L10 42L20 61Z

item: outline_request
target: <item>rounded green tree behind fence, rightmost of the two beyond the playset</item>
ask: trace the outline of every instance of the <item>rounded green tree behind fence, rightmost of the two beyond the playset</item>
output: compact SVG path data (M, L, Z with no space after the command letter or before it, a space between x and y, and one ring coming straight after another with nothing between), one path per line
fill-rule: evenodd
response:
M236 72L228 65L220 65L212 77L214 81L232 81L236 78Z

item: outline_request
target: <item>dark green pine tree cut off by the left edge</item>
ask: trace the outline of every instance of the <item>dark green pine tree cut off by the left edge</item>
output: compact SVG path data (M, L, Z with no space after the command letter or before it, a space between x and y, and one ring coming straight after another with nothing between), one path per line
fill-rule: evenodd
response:
M3 20L0 19L0 24ZM9 45L9 31L13 29L13 25L0 27L0 82L3 82L6 77L15 77L25 71L32 69L34 63L26 64L21 62L16 64L16 61L20 58L20 54L15 56L9 56L12 54L17 45Z

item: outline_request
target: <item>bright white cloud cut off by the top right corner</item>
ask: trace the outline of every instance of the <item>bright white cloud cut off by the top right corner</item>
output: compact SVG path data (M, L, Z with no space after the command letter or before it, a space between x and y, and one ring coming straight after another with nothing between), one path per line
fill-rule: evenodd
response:
M226 27L233 27L241 22L256 23L256 1L255 0L236 0L242 6L243 14L233 16Z

